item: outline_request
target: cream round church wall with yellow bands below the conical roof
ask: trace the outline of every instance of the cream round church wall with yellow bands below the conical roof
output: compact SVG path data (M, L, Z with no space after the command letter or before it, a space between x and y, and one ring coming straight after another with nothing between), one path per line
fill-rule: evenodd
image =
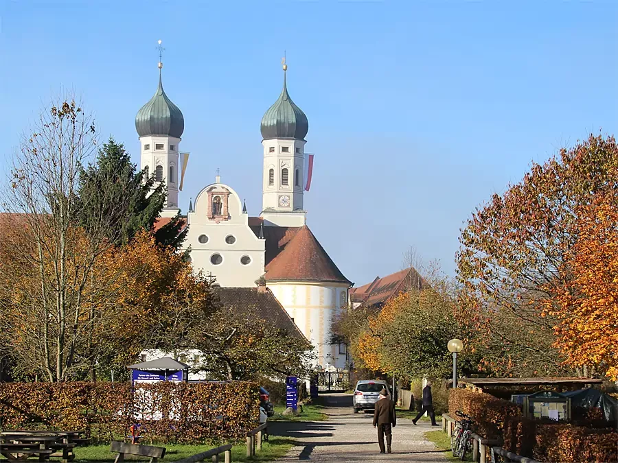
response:
M305 337L315 346L323 368L346 368L347 355L331 344L332 320L347 304L348 285L336 283L266 282Z

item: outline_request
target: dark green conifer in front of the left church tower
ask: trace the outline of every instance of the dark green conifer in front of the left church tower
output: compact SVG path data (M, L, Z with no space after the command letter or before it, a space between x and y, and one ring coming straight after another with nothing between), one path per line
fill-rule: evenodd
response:
M104 143L95 163L80 172L80 217L87 231L105 222L108 239L127 244L139 230L150 230L165 203L165 185L154 174L137 171L122 143L113 138ZM126 206L124 206L126 204ZM122 205L122 206L121 206ZM176 215L155 232L157 243L179 248L187 235Z

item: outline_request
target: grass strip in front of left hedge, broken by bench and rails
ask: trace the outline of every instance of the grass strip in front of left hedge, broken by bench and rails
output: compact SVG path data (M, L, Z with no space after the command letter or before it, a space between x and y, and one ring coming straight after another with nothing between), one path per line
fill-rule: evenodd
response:
M232 447L232 462L271 462L284 456L293 447L294 441L290 438L271 436L268 442L262 444L262 451L256 452L253 458L247 458L247 444L236 444ZM168 444L165 447L163 462L175 462L190 457L196 453L205 452L217 447L216 445L180 445ZM113 463L116 453L109 451L109 445L91 445L89 447L75 448L76 462ZM220 456L222 461L223 455ZM133 457L126 455L125 460L148 461L146 457Z

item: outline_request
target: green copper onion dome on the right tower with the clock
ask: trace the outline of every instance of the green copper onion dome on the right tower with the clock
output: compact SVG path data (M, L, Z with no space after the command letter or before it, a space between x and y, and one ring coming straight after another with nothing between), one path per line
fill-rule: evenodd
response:
M262 117L262 138L268 139L298 139L304 140L309 131L309 121L305 113L294 104L286 85L284 73L284 88L279 98L268 108Z

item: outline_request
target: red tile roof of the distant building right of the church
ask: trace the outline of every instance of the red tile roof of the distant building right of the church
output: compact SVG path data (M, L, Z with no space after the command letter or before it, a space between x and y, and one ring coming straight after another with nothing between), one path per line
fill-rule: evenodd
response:
M350 300L367 307L382 307L393 296L407 292L411 288L421 288L423 285L422 276L411 267L384 278L378 276L367 285L350 289Z

